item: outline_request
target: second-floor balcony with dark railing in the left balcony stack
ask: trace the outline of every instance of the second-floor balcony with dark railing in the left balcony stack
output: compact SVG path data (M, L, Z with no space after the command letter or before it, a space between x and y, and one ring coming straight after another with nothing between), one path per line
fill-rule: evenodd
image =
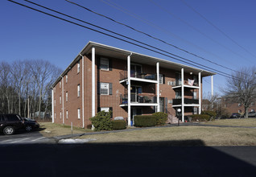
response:
M130 94L130 103L131 104L155 104L156 99L152 96L140 96L138 94ZM128 95L120 95L120 105L128 104Z

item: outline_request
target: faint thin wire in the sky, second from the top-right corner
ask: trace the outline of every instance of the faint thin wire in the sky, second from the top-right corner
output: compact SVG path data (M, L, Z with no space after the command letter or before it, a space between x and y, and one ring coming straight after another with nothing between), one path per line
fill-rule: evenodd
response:
M148 0L152 3L154 3L156 6L159 6L160 9L166 11L168 14L171 14L171 16L175 17L175 19L179 19L182 23L186 24L188 27L191 27L194 31L199 32L201 35L204 35L204 37L212 40L214 43L217 43L218 45L220 45L221 47L224 47L226 50L231 51L233 54L240 56L241 58L246 59L245 57L241 56L240 54L238 54L236 51L233 51L232 49L230 49L229 47L226 47L225 45L223 45L222 43L219 43L217 40L213 39L212 37L210 37L209 35L206 35L204 32L200 31L198 28L192 26L191 24L189 24L188 22L186 22L184 19L180 19L180 17L176 16L175 14L171 13L170 10L166 10L165 8L163 8L162 6L160 6L158 3L154 2L153 0ZM250 60L249 60L250 61Z

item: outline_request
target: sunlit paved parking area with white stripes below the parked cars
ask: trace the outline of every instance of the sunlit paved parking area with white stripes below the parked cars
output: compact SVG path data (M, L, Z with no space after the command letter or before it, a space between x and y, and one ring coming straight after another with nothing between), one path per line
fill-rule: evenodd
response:
M52 143L55 142L51 138L43 137L38 131L20 131L13 135L0 134L0 145L6 144L33 144L33 143Z

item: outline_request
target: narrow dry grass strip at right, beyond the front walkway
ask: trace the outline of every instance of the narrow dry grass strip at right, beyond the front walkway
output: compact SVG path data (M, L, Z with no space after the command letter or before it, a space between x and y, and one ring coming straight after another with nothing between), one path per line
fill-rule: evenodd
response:
M256 118L241 118L241 119L221 119L208 121L204 124L218 126L253 126L256 127Z

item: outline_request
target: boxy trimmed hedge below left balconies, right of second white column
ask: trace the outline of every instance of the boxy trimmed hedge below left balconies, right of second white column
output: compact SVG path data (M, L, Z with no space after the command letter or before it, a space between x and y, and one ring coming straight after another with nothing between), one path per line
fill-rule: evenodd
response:
M156 117L151 116L134 116L134 126L156 126Z

